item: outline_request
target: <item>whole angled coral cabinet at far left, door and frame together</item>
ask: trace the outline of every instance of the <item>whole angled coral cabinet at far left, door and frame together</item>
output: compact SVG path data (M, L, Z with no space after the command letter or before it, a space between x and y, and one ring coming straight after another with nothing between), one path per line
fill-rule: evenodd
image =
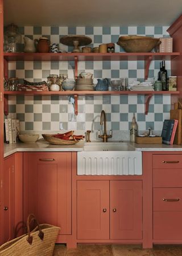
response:
M5 158L3 167L3 235L7 242L23 233L22 153Z

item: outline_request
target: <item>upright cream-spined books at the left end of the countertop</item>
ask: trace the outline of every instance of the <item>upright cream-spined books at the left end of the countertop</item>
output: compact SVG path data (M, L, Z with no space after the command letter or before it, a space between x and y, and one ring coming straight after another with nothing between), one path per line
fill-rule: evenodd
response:
M18 134L20 133L20 126L18 119L5 119L5 142L16 143L18 141Z

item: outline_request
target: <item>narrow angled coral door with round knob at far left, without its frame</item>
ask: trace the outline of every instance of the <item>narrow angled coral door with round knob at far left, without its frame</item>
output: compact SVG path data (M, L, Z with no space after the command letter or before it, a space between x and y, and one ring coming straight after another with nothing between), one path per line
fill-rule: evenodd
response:
M3 167L3 243L13 239L14 226L14 155L4 160Z

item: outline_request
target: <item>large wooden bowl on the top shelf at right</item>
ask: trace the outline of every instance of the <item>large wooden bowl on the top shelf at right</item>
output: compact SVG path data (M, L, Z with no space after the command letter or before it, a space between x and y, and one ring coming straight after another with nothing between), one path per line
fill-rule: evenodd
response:
M149 53L155 46L160 45L159 38L129 35L119 37L117 45L123 47L127 53Z

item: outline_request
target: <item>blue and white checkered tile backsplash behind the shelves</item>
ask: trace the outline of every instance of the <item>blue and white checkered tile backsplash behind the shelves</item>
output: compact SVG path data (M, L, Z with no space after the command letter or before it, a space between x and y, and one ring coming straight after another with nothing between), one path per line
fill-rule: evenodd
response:
M123 51L116 42L120 35L148 35L151 37L168 37L167 27L20 27L19 31L24 36L32 39L46 36L51 43L58 43L59 48L72 51L72 47L61 45L60 37L68 34L83 34L92 38L90 46L96 47L101 43L115 43L115 52ZM19 44L19 51L23 51ZM149 78L157 78L160 61L152 61ZM68 74L74 78L74 62L10 62L9 77L18 77L39 82L46 80L49 74ZM170 75L170 62L166 61L166 69ZM111 80L128 77L133 80L143 81L144 61L88 61L78 62L78 73L82 71L94 74L94 83L97 78L110 78ZM107 130L129 130L133 113L139 130L148 127L160 131L163 121L169 118L171 97L155 95L151 98L148 115L144 115L143 95L121 96L80 96L78 97L78 115L74 114L74 105L70 97L63 96L10 96L10 115L20 119L22 131L59 131L64 130L92 130L100 127L100 113L105 110Z

